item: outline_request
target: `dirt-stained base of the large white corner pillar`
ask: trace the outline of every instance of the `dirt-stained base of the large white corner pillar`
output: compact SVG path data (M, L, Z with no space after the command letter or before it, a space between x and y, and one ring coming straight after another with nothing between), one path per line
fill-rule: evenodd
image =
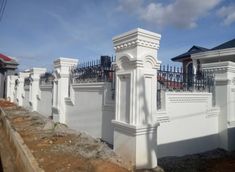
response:
M157 127L135 126L113 120L114 151L131 162L136 169L152 169L157 166Z

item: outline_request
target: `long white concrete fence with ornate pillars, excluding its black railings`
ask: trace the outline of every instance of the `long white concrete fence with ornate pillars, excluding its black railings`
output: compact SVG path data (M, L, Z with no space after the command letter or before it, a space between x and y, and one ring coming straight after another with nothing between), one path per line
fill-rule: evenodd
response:
M235 63L203 64L216 74L216 106L211 93L165 92L165 108L157 110L160 38L143 29L113 38L115 100L110 82L71 83L71 68L78 60L69 58L54 62L54 80L49 85L40 83L44 68L9 76L7 98L101 138L138 169L156 167L160 157L218 147L233 150Z

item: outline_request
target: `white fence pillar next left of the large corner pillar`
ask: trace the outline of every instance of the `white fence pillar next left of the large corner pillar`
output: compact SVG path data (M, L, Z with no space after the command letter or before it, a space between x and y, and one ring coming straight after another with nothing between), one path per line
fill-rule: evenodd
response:
M59 58L54 61L55 80L53 83L53 108L54 121L66 123L65 98L69 93L69 74L72 67L78 64L77 59Z

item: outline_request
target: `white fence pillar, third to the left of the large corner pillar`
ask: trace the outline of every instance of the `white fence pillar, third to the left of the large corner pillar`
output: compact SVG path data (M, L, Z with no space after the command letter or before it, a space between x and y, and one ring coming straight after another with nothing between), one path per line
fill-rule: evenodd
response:
M29 72L19 72L17 79L17 86L15 87L15 103L19 106L23 106L23 96L24 96L24 79L29 77Z

